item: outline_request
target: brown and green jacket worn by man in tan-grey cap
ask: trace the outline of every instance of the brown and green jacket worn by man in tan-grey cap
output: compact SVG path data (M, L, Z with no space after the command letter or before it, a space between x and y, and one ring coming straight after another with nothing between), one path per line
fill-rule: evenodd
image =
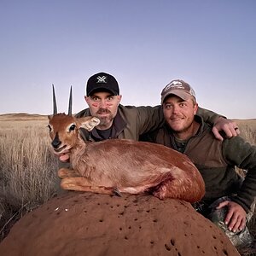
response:
M185 143L183 153L199 169L206 183L203 200L211 201L228 195L248 212L256 196L256 147L241 137L218 141L201 117L195 116L195 120L201 124L200 129ZM178 149L167 125L151 134L148 140ZM247 170L244 180L235 166Z

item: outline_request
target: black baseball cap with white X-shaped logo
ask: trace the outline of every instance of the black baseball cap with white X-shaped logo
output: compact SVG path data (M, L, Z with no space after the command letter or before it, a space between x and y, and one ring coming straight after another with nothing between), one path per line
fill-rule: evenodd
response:
M90 96L96 90L107 90L113 93L113 95L119 95L119 84L109 73L96 73L87 81L86 96Z

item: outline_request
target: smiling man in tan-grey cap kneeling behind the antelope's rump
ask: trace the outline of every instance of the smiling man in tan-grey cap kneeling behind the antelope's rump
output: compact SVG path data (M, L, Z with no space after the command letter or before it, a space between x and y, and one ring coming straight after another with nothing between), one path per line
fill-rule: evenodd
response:
M240 249L252 243L246 223L256 196L256 147L241 137L216 140L211 127L196 114L195 91L183 80L173 80L162 90L166 123L149 141L187 154L206 183L206 195L195 208L217 224ZM235 166L247 170L241 177Z

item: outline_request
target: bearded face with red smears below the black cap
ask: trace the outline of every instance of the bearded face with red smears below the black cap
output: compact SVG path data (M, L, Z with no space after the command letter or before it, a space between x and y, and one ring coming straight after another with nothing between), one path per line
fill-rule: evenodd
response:
M101 120L97 126L99 130L106 130L113 124L113 118L118 111L122 96L113 96L110 92L95 92L91 96L84 96L90 113Z

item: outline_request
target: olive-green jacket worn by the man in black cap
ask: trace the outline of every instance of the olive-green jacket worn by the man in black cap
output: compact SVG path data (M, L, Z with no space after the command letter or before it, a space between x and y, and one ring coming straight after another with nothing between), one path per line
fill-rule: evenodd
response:
M219 117L207 109L199 108L203 118L210 124ZM90 116L90 109L86 108L76 114L77 118ZM161 106L133 107L119 105L118 113L113 119L113 129L110 138L139 140L139 137L148 131L155 131L164 124L164 116ZM100 141L96 129L91 132L81 129L84 140Z

